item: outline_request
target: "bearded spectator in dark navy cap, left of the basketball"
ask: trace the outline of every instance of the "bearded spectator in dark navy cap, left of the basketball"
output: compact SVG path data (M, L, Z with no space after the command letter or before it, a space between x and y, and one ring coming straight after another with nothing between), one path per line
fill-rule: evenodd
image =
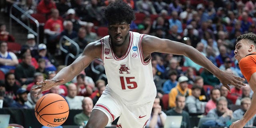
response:
M28 91L25 88L20 88L16 92L16 100L10 105L11 108L29 108L25 102L28 101Z

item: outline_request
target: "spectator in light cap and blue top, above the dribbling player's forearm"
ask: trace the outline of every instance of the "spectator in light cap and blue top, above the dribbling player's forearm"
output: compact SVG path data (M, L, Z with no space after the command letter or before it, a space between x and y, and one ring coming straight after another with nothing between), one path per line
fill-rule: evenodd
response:
M47 52L47 48L45 44L38 45L39 50L39 58L43 58L45 60L45 70L48 71L56 71L56 60ZM39 59L38 58L38 59Z

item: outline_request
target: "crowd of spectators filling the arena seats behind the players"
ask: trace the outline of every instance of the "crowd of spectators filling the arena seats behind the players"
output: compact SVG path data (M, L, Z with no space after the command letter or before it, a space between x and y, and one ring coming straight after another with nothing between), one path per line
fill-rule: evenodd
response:
M48 19L44 25L46 42L35 42L35 36L28 34L22 42L20 53L8 51L8 42L15 42L15 37L6 31L5 24L0 24L0 70L5 74L0 91L4 107L33 108L38 98L31 91L35 83L52 78L64 66L59 64L58 41L67 36L79 46L79 53L84 47L98 40L95 28L107 26L103 17L104 8L115 0L25 0L10 1L1 4L1 13L8 12L10 4L18 4L28 14L43 14ZM130 25L130 30L150 34L188 44L221 70L233 72L244 78L238 62L234 59L236 37L248 32L256 32L256 1L254 0L124 0L136 16L141 17ZM9 4L8 4L9 3ZM26 16L20 15L26 20ZM75 53L76 48L70 42L62 43L68 52ZM64 54L64 53L60 53ZM96 60L93 67L104 74L102 62ZM221 86L216 76L186 56L153 53L152 68L157 97L152 109L152 119L148 126L163 126L166 115L186 116L182 128L190 128L188 114L205 115L221 120L228 125L228 120L240 118L247 106L252 90L247 85L240 88L231 86L231 93ZM90 72L90 67L74 78L70 83L52 88L46 93L62 95L70 109L83 109L75 116L77 125L84 125L78 117L88 119L107 84L99 80L98 74ZM88 74L88 75L87 75ZM99 76L99 75L98 75ZM22 89L22 88L25 88ZM163 108L168 95L168 108ZM89 100L88 97L91 99ZM13 102L10 102L13 101ZM90 102L90 103L88 103ZM89 105L88 105L89 104ZM232 106L241 105L239 112L233 112ZM246 106L247 105L247 106ZM162 114L166 112L166 114ZM238 115L240 114L240 115ZM163 115L163 116L162 116ZM152 121L162 121L160 123ZM250 121L246 126L252 126Z

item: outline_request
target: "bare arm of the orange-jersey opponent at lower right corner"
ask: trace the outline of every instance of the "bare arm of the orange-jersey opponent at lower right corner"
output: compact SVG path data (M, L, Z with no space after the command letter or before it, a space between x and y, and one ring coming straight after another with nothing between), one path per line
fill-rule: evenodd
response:
M256 91L256 73L252 74L249 85L252 88L252 91ZM244 116L237 120L236 122L233 122L230 126L230 128L243 128L245 124L256 114L255 111L256 108L256 94L254 93L252 95L251 105L248 108L248 110L245 112Z

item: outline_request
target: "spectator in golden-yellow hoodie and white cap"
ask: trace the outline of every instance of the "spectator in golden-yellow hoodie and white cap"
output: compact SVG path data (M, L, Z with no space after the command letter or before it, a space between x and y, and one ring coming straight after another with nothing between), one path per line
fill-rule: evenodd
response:
M172 90L169 93L169 107L173 108L176 106L175 100L177 95L182 96L191 96L192 91L190 88L188 88L188 78L186 76L180 76L178 78L178 84L175 88L172 88Z

